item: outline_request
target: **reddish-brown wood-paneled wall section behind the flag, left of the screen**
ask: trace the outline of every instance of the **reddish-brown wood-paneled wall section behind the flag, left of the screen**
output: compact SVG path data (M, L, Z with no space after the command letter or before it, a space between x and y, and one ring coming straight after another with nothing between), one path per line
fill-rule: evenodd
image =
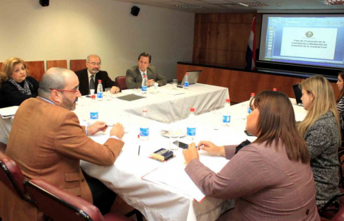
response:
M193 62L245 67L248 37L254 16L258 48L261 14L195 14Z

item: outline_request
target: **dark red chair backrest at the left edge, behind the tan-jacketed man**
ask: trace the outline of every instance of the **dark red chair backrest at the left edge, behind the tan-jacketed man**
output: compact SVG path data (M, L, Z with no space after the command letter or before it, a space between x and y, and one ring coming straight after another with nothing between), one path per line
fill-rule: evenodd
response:
M4 153L0 153L0 167L0 181L24 201L33 203L25 196L26 190L23 185L25 177L16 162Z

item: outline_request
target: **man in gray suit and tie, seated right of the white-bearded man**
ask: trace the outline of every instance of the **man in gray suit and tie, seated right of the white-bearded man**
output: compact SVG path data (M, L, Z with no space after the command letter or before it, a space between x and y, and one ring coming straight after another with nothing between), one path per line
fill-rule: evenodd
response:
M156 68L151 65L151 55L143 52L139 54L138 65L127 69L125 75L125 83L128 89L141 88L142 76L147 75L147 86L154 85L154 82L159 83L159 86L164 86L167 83L165 76L156 71Z

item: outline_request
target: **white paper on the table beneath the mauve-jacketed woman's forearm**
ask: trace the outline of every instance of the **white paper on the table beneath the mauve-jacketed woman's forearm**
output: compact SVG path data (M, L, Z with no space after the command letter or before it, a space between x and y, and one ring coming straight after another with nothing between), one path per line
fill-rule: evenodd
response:
M220 156L210 156L207 155L207 153L202 155L202 153L200 153L200 162L212 169L212 171L219 172L224 165L229 162L229 160ZM155 169L142 177L142 179L154 182L155 184L166 184L174 187L179 191L192 196L199 203L203 198L205 198L205 193L203 193L190 179L188 174L185 172L185 165L180 164L180 161L166 162L158 169Z

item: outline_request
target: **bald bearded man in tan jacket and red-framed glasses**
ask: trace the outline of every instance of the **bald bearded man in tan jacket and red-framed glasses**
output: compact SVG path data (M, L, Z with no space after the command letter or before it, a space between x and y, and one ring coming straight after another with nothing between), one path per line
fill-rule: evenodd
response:
M26 178L40 177L55 186L93 203L93 193L81 172L80 160L96 165L113 165L124 143L121 124L115 124L103 145L88 138L105 131L105 122L80 126L74 112L81 96L73 71L50 68L40 81L38 97L21 104L8 139L6 155L15 160ZM93 189L93 188L91 188ZM0 188L3 220L42 220L33 205ZM93 196L93 198L92 198ZM111 205L110 205L111 206Z

